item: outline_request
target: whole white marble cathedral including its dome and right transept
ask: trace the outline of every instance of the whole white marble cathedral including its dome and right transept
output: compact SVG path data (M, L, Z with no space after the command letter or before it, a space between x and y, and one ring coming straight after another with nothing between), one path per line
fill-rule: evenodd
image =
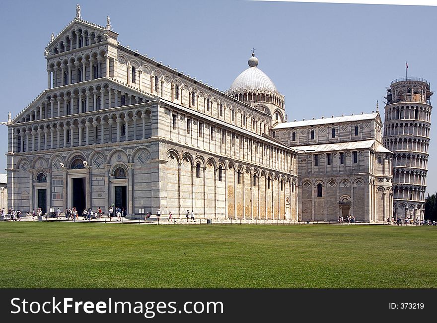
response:
M10 207L119 206L130 218L157 209L299 221L395 214L378 111L289 123L253 54L223 92L117 38L109 17L106 26L83 20L79 6L52 34L47 89L8 122Z

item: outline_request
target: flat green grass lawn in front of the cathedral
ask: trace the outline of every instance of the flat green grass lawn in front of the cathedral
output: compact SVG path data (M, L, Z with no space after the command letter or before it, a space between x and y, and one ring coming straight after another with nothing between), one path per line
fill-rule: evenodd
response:
M0 223L0 287L437 287L437 228Z

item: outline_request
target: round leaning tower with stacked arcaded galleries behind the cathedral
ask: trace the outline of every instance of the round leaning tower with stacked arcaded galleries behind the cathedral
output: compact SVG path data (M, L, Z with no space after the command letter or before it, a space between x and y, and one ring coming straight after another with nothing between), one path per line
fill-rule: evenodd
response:
M431 95L430 84L423 78L397 79L387 88L383 141L394 153L395 218L424 218Z

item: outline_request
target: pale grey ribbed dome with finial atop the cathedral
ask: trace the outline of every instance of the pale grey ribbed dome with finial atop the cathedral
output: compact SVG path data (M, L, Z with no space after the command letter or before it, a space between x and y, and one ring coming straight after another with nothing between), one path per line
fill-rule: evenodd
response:
M252 54L249 59L249 68L244 70L238 75L232 82L228 92L229 93L243 93L243 92L255 92L255 93L272 93L278 92L275 84L258 66L258 59Z

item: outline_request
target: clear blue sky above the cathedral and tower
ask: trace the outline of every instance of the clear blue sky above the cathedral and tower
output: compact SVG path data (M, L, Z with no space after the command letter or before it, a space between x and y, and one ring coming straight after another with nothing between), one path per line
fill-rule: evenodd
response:
M14 117L47 85L44 47L80 0L2 1L0 120ZM239 0L81 1L82 18L110 15L122 45L220 90L258 65L285 95L289 120L358 114L383 118L393 79L423 77L437 92L437 7ZM437 94L432 97L436 102ZM428 191L437 191L437 119L432 117ZM6 127L0 151L7 151ZM0 168L6 167L6 157Z

